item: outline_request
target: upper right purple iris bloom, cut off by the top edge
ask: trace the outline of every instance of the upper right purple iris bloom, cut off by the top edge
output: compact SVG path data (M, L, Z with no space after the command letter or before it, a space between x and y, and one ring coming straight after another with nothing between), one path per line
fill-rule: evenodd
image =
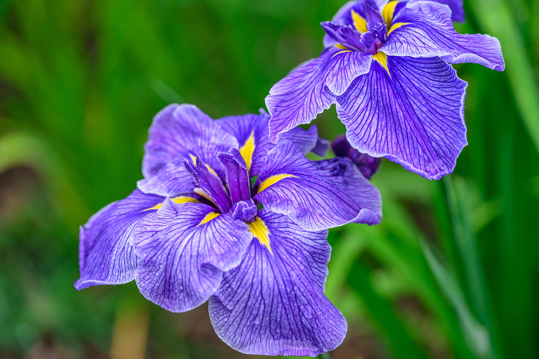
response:
M450 64L503 71L505 63L496 38L454 30L452 16L464 20L460 1L441 2L344 5L333 21L321 24L326 35L320 57L269 90L269 138L277 142L335 103L358 151L429 179L451 173L467 144L467 83Z

